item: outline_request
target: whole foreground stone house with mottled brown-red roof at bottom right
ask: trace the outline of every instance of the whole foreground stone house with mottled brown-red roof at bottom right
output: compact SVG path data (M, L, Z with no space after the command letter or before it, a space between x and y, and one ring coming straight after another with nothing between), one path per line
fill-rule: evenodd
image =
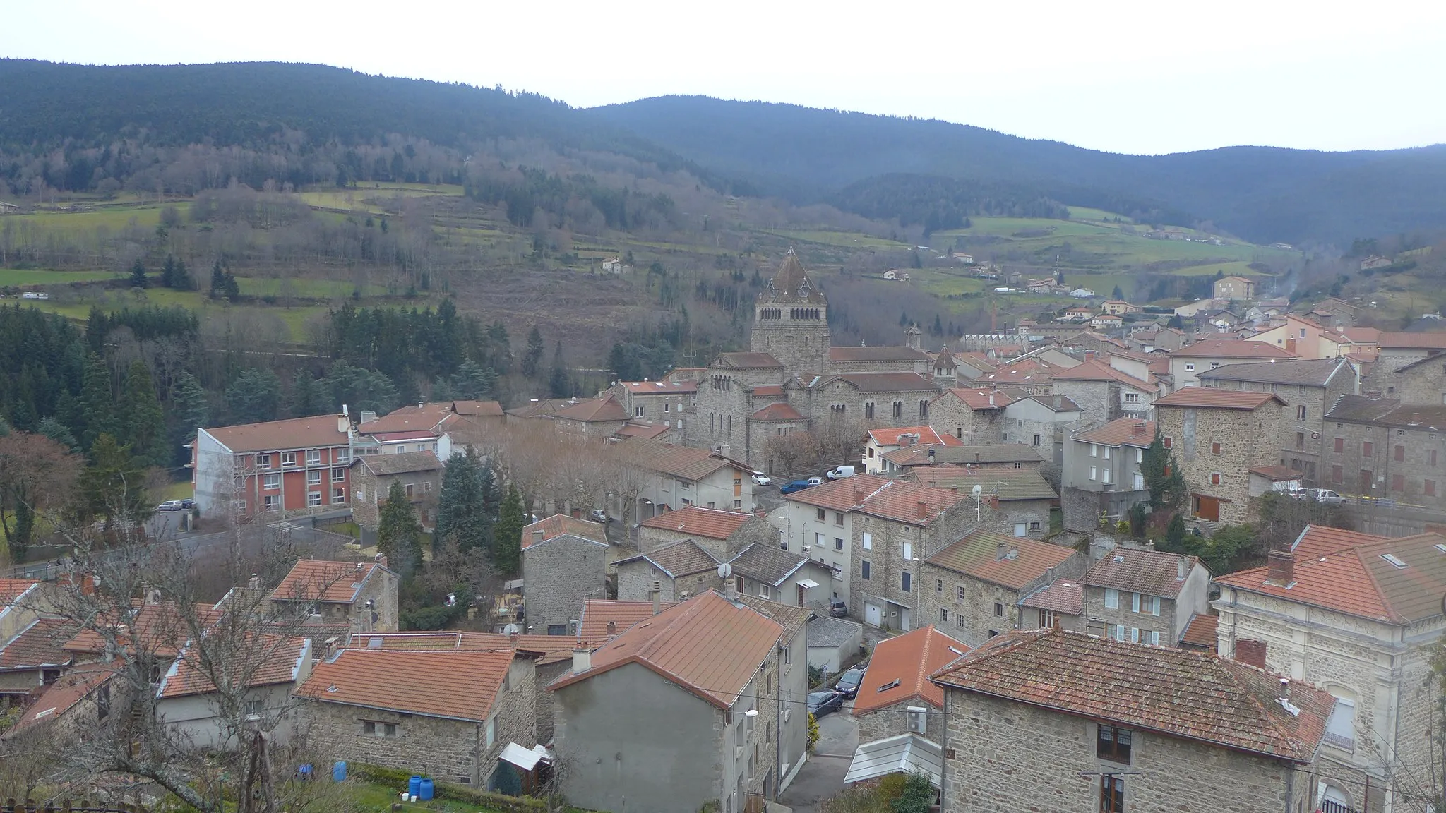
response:
M943 813L1210 809L1222 794L1244 813L1309 810L1333 706L1223 658L1063 629L999 635L934 681L950 710Z

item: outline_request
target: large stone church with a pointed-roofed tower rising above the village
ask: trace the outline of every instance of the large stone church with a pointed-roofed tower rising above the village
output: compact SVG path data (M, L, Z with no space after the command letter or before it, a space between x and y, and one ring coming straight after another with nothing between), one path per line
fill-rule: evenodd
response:
M771 441L790 433L833 427L862 437L869 428L927 424L940 388L917 327L910 325L907 340L834 347L829 299L790 249L753 302L748 352L719 354L698 380L683 441L772 474Z

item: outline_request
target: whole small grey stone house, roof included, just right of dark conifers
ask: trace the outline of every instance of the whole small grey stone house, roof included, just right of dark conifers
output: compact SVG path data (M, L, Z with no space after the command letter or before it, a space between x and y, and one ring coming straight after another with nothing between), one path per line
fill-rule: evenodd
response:
M574 635L583 602L606 597L607 538L597 522L552 516L522 534L522 597L532 632ZM573 525L581 525L571 532ZM602 538L597 538L602 537Z

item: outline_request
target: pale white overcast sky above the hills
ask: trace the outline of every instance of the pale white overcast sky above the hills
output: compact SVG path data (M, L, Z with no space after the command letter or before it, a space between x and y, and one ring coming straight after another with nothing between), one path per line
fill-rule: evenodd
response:
M0 55L321 62L584 107L759 98L1112 152L1446 142L1439 0L1054 6L3 0Z

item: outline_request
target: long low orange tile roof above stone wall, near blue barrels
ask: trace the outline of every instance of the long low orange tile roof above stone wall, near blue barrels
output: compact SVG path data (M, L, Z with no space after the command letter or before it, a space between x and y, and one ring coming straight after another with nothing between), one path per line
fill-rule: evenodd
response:
M343 650L321 661L301 697L409 715L484 722L513 652Z

